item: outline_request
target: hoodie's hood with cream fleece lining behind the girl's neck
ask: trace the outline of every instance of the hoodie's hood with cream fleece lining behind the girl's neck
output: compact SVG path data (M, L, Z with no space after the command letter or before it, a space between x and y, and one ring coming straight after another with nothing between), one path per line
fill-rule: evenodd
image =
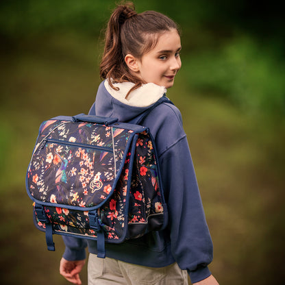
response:
M156 103L166 92L166 88L153 83L143 84L140 88L132 91L128 99L125 95L132 86L131 82L114 84L119 90L111 88L106 80L99 85L95 113L97 116L118 118L121 122L130 122L142 112ZM94 106L92 106L94 108ZM90 114L92 114L92 108Z

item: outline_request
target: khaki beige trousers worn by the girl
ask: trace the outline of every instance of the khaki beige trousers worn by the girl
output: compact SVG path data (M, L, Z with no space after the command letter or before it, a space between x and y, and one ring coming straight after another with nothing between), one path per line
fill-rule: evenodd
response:
M168 267L143 267L90 253L88 285L188 285L187 271L177 263Z

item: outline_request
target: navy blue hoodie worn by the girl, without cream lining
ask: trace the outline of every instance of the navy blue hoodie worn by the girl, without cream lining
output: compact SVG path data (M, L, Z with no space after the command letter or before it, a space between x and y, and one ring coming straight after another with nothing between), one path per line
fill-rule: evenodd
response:
M151 106L129 106L115 99L104 82L99 86L95 104L89 114L112 116L121 122L134 123L136 117ZM212 240L206 223L195 170L193 167L182 116L171 103L162 103L140 123L149 127L156 142L169 225L160 232L121 244L106 243L106 256L147 267L165 267L177 262L186 269L191 282L199 282L211 273ZM97 253L97 243L64 236L66 260L85 258Z

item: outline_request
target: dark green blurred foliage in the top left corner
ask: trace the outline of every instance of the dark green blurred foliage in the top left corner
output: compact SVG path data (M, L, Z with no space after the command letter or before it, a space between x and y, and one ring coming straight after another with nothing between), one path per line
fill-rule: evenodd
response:
M110 14L113 3L111 0L1 1L1 33L29 36L41 32L77 29L97 34L102 22Z

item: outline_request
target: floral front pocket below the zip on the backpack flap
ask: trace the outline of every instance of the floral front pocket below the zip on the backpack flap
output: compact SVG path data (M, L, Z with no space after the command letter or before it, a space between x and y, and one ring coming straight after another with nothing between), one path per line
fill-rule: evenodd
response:
M109 195L114 182L111 148L46 139L28 172L31 195L40 201L92 207Z

